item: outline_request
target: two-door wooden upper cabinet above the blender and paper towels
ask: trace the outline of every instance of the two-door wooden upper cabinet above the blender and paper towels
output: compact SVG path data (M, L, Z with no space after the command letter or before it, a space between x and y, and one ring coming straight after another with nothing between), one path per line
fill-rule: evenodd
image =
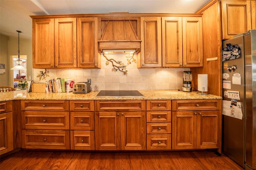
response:
M163 67L202 67L202 35L202 17L162 17Z

